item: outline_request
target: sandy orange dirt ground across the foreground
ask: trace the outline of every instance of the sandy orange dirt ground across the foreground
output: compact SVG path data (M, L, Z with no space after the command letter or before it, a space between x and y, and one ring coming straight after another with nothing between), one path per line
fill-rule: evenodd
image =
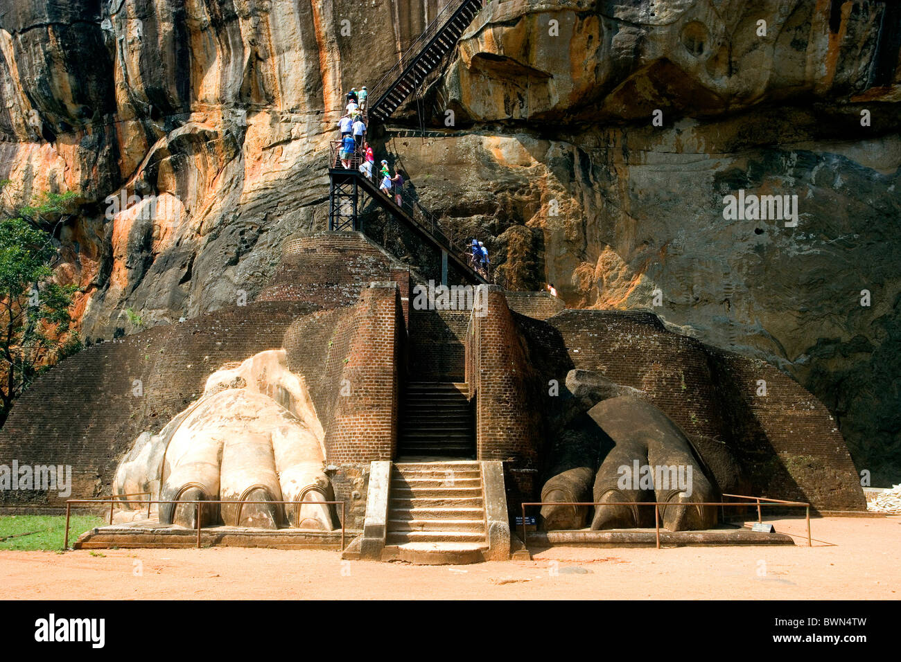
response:
M341 561L337 551L0 551L5 599L897 599L901 517L775 520L796 547L554 548L470 566ZM96 553L96 552L95 552Z

